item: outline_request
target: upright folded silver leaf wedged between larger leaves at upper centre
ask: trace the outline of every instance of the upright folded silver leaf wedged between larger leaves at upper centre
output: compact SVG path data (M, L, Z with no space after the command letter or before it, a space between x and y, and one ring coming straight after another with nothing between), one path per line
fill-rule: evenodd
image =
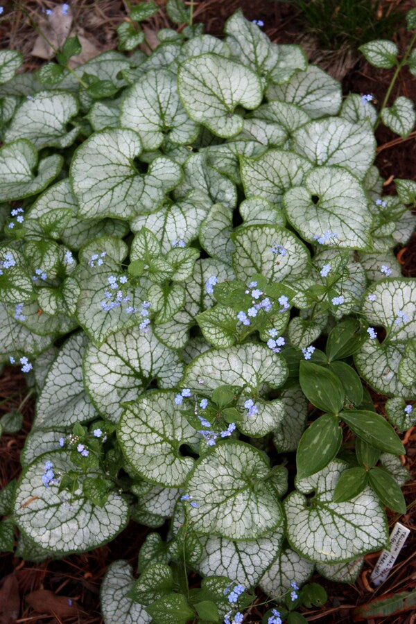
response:
M184 163L183 170L184 179L175 189L175 198L183 199L189 191L200 191L213 204L223 204L230 209L236 207L237 191L234 182L208 164L206 153L191 154Z

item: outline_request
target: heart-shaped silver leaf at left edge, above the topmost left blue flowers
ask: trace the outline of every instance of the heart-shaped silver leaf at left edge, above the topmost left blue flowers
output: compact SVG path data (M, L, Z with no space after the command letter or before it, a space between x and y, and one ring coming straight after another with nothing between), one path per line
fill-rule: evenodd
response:
M60 173L64 162L58 154L37 161L37 150L27 139L3 145L0 149L0 193L3 201L40 193Z

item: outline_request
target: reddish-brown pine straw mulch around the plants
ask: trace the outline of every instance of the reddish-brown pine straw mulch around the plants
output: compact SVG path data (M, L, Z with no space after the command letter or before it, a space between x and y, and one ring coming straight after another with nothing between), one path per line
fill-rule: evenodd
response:
M163 0L157 0L163 6ZM408 0L390 0L399 3L401 8L410 8ZM132 2L137 3L136 1ZM92 40L96 52L116 47L115 29L125 19L127 12L125 0L74 0L71 2L73 25L77 31ZM36 23L42 20L42 7L54 8L57 3L51 0L2 1L5 11L0 20L0 48L19 49L24 53L25 69L31 71L40 67L42 60L31 55L37 37L31 19ZM353 53L340 51L322 51L305 35L300 15L287 3L270 0L200 0L196 2L194 12L196 21L204 21L206 32L220 35L224 21L237 8L243 8L248 19L263 19L265 31L272 41L277 43L300 42L306 49L309 60L316 62L337 78L343 79L343 90L349 92L372 93L378 101L388 87L391 72L376 70L368 66L363 59ZM31 19L29 19L29 16ZM166 15L160 15L148 22L148 28L170 26ZM406 31L397 34L397 43L404 49ZM392 99L403 94L416 99L416 78L406 71L393 89ZM394 193L394 177L415 179L416 172L416 132L408 139L398 139L385 129L377 131L379 143L376 165L385 178L385 193ZM402 272L408 277L416 277L416 235L406 245L396 249ZM23 375L16 369L6 367L0 378L0 413L17 409L26 395ZM374 395L374 403L383 413L385 398ZM31 429L34 415L34 403L28 401L23 408L24 425L15 435L3 435L0 438L0 487L4 487L20 472L19 453L26 435ZM416 587L416 429L410 429L404 438L407 455L402 458L412 473L412 480L404 487L408 503L408 513L398 517L388 511L390 528L399 519L412 531L388 580L374 589L368 577L374 567L378 553L365 557L365 566L356 584L345 585L322 580L318 575L313 580L321 582L328 593L328 602L321 608L309 609L303 614L309 622L346 624L354 621L353 609L365 605L371 600L399 591L410 591ZM293 462L294 458L291 458ZM121 557L137 565L137 553L150 528L131 522L127 528L107 546L83 555L71 555L60 561L46 561L40 564L25 562L11 553L0 555L0 624L12 623L57 623L57 624L98 624L101 620L99 607L99 588L108 564ZM191 578L191 583L198 584L198 576ZM73 606L69 607L68 598ZM266 597L259 592L258 602ZM245 622L261 621L264 607L253 607ZM373 620L374 621L374 620ZM372 620L370 620L372 622ZM375 621L374 621L375 622ZM414 624L415 612L388 616L377 619L377 623ZM123 623L120 623L123 624Z

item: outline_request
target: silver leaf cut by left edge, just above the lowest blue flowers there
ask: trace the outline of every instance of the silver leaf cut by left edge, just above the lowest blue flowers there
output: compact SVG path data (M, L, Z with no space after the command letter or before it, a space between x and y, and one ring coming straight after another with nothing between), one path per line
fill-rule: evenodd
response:
M39 336L17 322L0 304L0 362L10 363L9 357L33 358L51 346L54 336Z

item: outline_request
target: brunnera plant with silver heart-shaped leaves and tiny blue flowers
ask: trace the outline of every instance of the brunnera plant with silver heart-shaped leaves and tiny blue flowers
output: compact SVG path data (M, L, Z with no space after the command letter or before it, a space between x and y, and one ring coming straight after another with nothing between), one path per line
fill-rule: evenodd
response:
M406 512L416 282L393 248L416 184L383 196L373 163L379 118L404 134L413 107L343 98L241 12L220 40L169 0L188 25L146 55L156 10L73 70L76 38L36 73L0 53L1 362L37 396L0 546L17 528L17 556L64 557L132 519L155 531L138 578L109 566L107 624L240 623L256 587L264 622L299 622L326 600L313 571L354 582L383 505Z

